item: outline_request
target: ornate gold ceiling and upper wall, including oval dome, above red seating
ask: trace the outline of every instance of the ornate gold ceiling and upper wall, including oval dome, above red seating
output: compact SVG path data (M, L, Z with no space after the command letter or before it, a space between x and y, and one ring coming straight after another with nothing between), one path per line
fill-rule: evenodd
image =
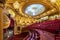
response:
M18 26L23 28L36 22L60 18L59 0L5 0L4 9L15 21L16 32Z

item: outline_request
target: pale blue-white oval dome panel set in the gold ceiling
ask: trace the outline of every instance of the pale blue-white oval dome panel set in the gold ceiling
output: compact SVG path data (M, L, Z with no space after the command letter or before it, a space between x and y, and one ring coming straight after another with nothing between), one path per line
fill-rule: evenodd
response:
M45 11L45 6L42 4L32 4L25 9L25 14L30 16L36 16Z

